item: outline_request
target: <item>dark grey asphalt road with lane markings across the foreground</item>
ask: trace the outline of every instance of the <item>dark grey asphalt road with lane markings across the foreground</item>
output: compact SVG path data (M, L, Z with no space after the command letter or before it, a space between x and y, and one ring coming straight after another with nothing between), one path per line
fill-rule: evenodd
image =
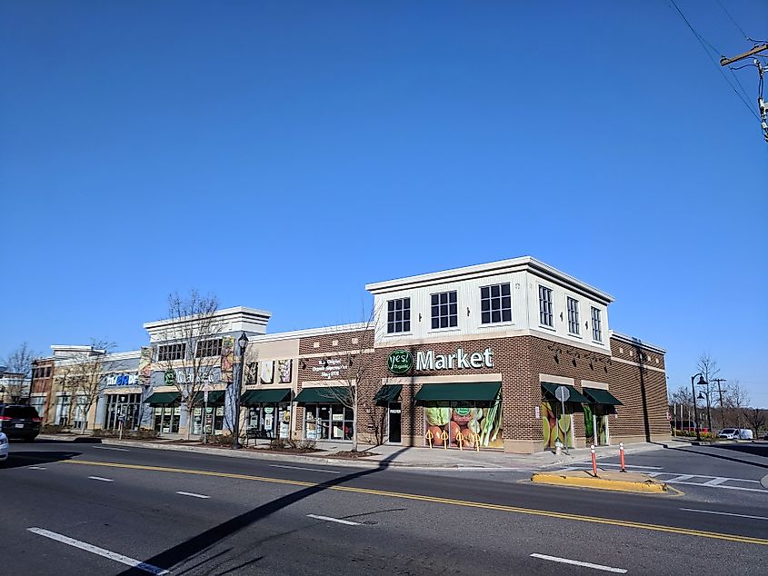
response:
M0 557L18 574L768 574L768 492L683 492L35 442L0 470Z

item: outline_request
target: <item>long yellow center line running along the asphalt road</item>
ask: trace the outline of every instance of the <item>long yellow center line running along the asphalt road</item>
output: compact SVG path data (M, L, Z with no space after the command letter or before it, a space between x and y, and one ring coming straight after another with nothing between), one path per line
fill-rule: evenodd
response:
M573 521L591 522L594 524L608 524L611 526L621 526L623 528L635 528L639 530L670 532L673 534L682 534L685 536L696 536L699 538L711 538L713 540L724 540L724 541L742 542L746 544L759 544L762 546L768 546L768 539L753 538L752 536L738 536L736 534L723 534L719 532L693 530L690 528L678 528L676 526L664 526L662 524L648 524L645 522L613 520L611 518L601 518L599 516L586 516L583 514L571 514L568 512L538 510L535 508L521 508L519 506L506 506L504 504L491 504L487 502L455 500L453 498L442 498L440 496L423 496L421 494L410 494L408 492L390 492L385 490L374 490L372 488L354 488L352 486L326 486L321 482L303 482L300 480L286 480L283 478L271 478L267 476L252 476L249 474L233 474L229 472L212 472L207 470L189 470L185 468L166 468L165 466L145 466L143 464L122 464L117 462L95 462L95 461L88 461L88 460L65 460L62 462L65 462L68 464L84 464L87 466L105 466L108 468L126 468L130 470L146 470L150 472L172 472L177 474L194 474L197 476L215 476L218 478L233 478L234 480L247 480L252 482L269 482L273 484L288 484L291 486L302 486L304 488L324 487L325 490L333 490L335 492L354 492L358 494L371 494L374 496L384 496L386 498L399 498L403 500L415 500L419 502L434 502L437 504L450 504L453 506L464 506L467 508L482 508L484 510L514 512L518 514L528 514L531 516L544 516L547 518L555 518L558 520L573 520Z

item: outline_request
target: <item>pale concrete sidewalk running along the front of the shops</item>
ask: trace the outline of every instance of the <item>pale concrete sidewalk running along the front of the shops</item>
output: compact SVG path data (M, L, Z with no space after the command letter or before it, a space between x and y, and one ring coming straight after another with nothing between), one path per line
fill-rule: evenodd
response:
M98 442L92 436L72 436L58 434L40 434L40 440L56 440L60 442ZM185 445L169 441L134 441L116 440L112 438L101 439L105 445L135 446L136 448L151 448L155 450L175 450L180 452L197 452L202 454L215 454L217 456L230 456L234 458L254 458L262 460L277 460L284 462L314 462L317 464L334 464L337 466L355 467L409 467L425 469L462 469L462 470L534 470L549 468L552 466L567 466L571 462L589 460L589 448L580 448L568 451L568 454L555 456L553 452L537 452L534 454L510 454L504 452L474 452L470 450L445 450L443 448L414 448L408 446L367 446L360 444L359 450L370 450L374 455L364 458L337 457L337 452L345 452L350 449L348 443L317 442L316 448L320 452L297 454L294 452L272 452L266 450L266 445L258 448L247 448L238 451L229 448L213 448L200 444ZM661 450L663 445L652 443L627 444L624 447L626 454ZM618 446L601 446L596 449L598 458L617 456Z

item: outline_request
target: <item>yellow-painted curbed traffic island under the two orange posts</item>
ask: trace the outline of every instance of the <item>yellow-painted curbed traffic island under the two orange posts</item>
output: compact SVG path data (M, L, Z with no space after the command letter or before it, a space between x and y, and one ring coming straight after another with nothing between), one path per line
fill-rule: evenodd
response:
M597 476L594 476L591 470L536 472L531 476L531 482L618 492L661 494L667 490L666 483L656 481L641 472L600 469L597 471Z

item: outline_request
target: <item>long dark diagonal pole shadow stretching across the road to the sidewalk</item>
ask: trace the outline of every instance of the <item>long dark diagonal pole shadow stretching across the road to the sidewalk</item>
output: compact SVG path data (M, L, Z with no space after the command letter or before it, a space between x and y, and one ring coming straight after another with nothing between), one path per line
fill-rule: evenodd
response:
M346 474L327 482L320 482L314 486L309 486L297 492L286 494L285 496L272 502L267 502L261 506L257 506L253 510L246 511L243 514L235 516L228 521L224 521L186 541L176 544L173 548L169 548L166 551L155 554L155 556L152 558L145 559L145 563L152 564L160 568L165 568L166 570L171 570L172 567L177 566L181 562L194 559L196 556L199 556L205 551L210 550L212 547L214 547L214 545L224 541L224 539L234 535L239 531L244 530L245 528L248 528L258 521L264 520L264 518L269 517L277 511L281 511L284 508L287 508L295 502L300 502L305 498L313 496L314 494L324 492L334 488L334 486L344 484L344 482L349 482L386 470L390 467L390 462L392 462L398 454L406 450L408 450L408 448L404 447L398 452L390 454L383 461L379 462L379 465L375 468L369 468L360 472ZM213 558L209 560L213 560ZM197 563L194 569L200 570L202 565L207 561L208 560ZM212 573L212 570L207 570L205 572ZM145 574L145 572L136 568L130 568L128 570L122 571L120 574L121 576L134 576L138 574Z

